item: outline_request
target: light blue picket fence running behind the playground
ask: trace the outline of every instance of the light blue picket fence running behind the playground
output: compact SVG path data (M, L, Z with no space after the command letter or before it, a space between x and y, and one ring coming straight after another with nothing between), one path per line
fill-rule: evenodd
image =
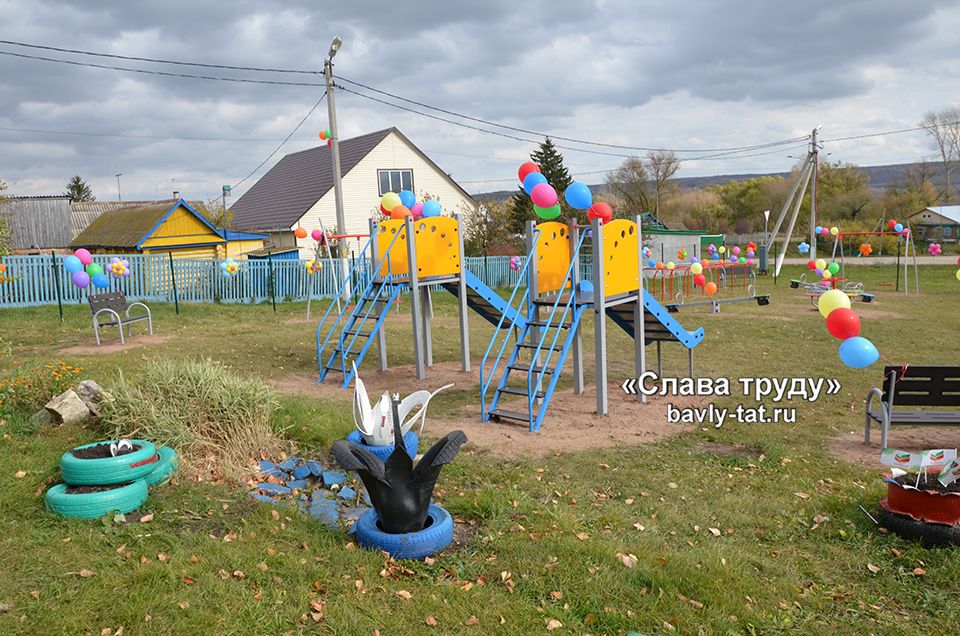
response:
M339 289L336 263L325 263L314 276L307 273L306 261L241 260L236 275L224 277L218 260L172 259L164 254L96 254L105 272L117 256L130 263L130 276L110 277L109 289L79 289L63 268L65 256L5 256L6 279L0 283L0 309L84 303L91 293L120 290L130 300L181 303L262 303L332 298ZM490 287L511 287L517 272L510 269L509 256L467 257L466 266ZM355 263L354 263L355 264ZM355 268L354 289L362 289L371 275L365 259Z

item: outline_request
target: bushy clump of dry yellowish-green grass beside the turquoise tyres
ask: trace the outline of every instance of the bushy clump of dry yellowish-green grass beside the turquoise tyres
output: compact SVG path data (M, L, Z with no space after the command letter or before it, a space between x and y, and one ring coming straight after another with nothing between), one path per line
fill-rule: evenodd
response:
M102 420L110 437L168 444L198 477L242 479L261 454L284 446L271 423L274 394L220 363L155 361L136 384L121 376L111 392Z

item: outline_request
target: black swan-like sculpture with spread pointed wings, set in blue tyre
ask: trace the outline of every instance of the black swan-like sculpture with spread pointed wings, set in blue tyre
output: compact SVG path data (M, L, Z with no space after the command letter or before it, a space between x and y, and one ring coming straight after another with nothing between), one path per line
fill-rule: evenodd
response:
M404 450L398 415L399 400L392 400L393 453L384 462L370 451L347 441L333 444L333 456L347 470L355 470L370 494L370 502L380 518L384 532L401 534L423 530L433 488L444 464L456 457L467 441L463 431L451 431L430 447L420 462Z

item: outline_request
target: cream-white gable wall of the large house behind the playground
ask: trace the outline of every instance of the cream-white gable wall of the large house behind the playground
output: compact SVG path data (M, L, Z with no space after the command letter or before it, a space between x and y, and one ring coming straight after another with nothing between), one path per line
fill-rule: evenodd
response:
M425 194L438 199L443 206L441 214L444 216L476 208L473 201L463 196L445 174L426 161L396 133L390 133L342 179L347 234L367 234L368 219L382 218L377 171L405 169L413 170L413 187L417 200L423 200ZM327 232L336 233L337 213L332 188L300 218L299 225L312 231L320 227L321 220ZM295 228L296 225L291 229ZM361 244L365 241L366 239L362 239ZM309 236L297 239L300 257L310 258L314 245ZM359 251L355 240L352 240L350 245L352 251Z

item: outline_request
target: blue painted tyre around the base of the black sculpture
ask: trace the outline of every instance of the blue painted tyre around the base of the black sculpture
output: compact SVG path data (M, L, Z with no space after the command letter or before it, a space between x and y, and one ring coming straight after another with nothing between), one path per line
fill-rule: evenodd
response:
M389 534L380 529L372 508L353 526L357 543L370 550L383 550L396 559L422 559L440 552L453 541L453 517L434 504L427 511L427 527L419 532Z

